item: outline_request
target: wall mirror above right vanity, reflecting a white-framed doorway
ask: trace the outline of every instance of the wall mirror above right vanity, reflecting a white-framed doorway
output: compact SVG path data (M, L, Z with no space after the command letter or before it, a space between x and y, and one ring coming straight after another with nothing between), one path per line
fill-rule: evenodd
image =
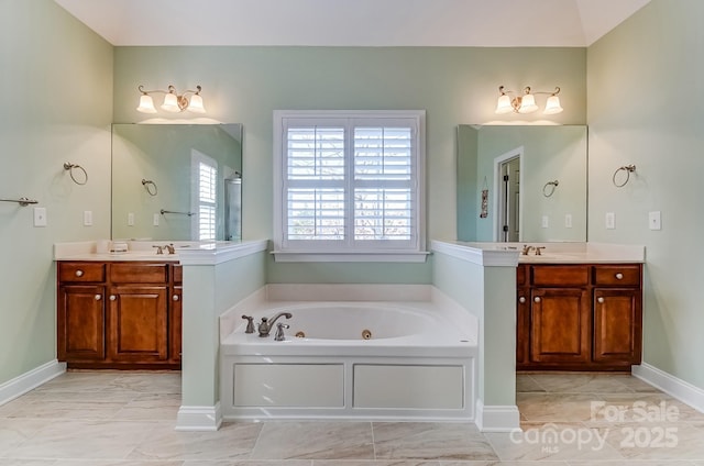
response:
M586 241L587 129L458 126L458 240Z

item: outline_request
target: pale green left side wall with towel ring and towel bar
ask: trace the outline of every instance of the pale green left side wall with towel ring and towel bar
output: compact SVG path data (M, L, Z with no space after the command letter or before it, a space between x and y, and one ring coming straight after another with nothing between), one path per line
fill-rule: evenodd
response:
M110 235L112 54L51 0L0 2L0 198L35 199L48 220L0 202L0 385L56 358L54 243Z

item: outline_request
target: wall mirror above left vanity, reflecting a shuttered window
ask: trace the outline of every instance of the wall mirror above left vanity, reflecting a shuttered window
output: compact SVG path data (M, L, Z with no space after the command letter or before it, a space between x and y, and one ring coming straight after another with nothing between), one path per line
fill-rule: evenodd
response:
M113 124L112 238L241 241L242 124Z

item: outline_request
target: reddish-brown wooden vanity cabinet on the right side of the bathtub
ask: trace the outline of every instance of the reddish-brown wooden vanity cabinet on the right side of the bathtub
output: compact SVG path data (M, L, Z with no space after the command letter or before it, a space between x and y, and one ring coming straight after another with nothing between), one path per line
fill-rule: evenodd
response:
M630 370L641 357L640 264L521 264L519 370Z

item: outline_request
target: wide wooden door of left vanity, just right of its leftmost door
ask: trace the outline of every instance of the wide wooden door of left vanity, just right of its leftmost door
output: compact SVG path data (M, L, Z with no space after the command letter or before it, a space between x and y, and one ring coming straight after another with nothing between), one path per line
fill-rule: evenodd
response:
M108 358L151 363L168 359L168 287L110 288Z

